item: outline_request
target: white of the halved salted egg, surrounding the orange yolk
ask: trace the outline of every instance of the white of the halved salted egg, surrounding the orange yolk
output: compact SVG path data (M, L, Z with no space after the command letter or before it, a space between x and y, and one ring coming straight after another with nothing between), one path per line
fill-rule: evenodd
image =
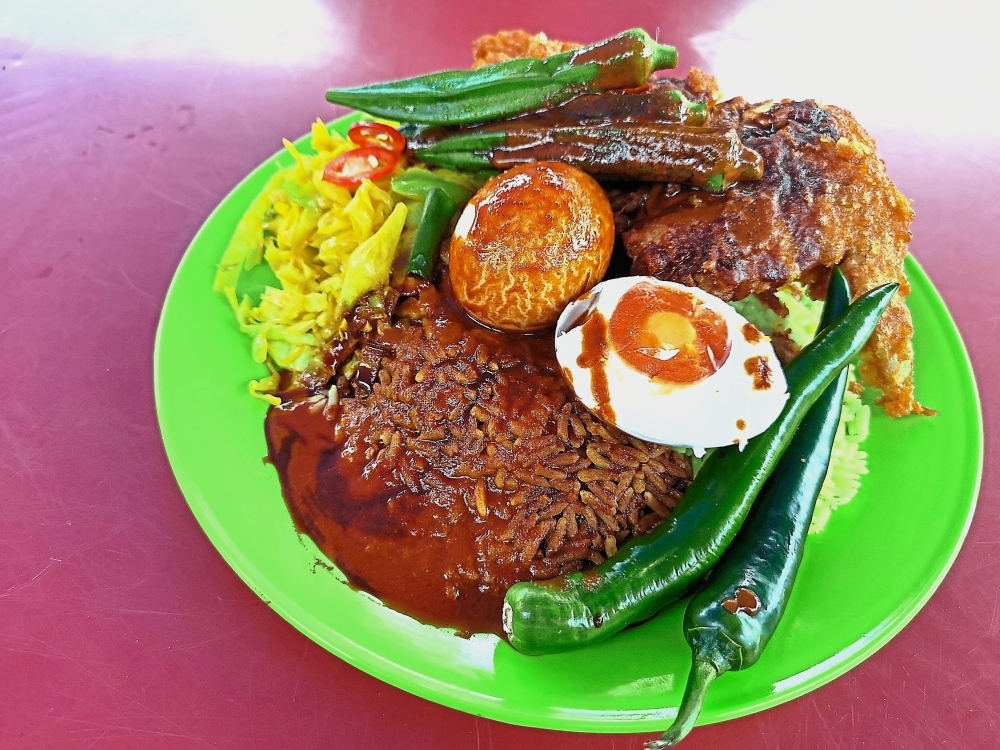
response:
M581 323L594 311L610 321L622 295L643 282L691 294L721 315L729 332L729 356L707 378L671 386L631 367L609 344L604 368L614 425L642 440L691 448L696 455L703 454L706 448L733 444L742 447L748 439L766 430L781 414L788 399L784 372L770 339L761 334L756 341L748 341L743 334L746 318L718 297L650 276L601 282L563 310L556 324L556 358L577 397L587 408L596 410L591 371L577 364L583 346ZM669 352L665 354L669 356ZM754 377L744 367L750 357L766 360L771 371L770 388L754 387ZM742 421L742 429L738 421Z

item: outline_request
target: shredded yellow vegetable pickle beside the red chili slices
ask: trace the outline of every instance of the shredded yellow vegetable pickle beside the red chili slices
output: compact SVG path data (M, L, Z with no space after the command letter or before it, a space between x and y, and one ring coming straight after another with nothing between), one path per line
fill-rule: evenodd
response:
M295 164L271 178L240 220L213 287L250 337L254 361L268 367L249 389L269 403L278 402L280 371L306 370L340 332L344 314L388 282L406 221L406 206L390 194L395 175L353 191L326 182L326 165L357 146L321 120L310 142L315 154L284 141ZM254 304L236 289L241 274L261 262L279 286L266 286Z

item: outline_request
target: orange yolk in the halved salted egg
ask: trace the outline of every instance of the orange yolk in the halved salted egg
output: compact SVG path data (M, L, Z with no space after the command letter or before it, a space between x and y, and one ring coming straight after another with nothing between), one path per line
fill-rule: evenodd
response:
M722 367L730 349L721 315L693 294L646 282L618 301L609 338L630 367L668 385L704 380Z

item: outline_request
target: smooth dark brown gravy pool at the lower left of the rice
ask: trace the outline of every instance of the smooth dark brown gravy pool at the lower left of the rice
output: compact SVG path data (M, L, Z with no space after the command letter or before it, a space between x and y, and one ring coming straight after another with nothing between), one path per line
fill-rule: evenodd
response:
M305 402L273 407L266 433L296 526L352 586L422 622L500 633L503 594L478 591L474 540L489 516L422 503L389 472L366 471Z

